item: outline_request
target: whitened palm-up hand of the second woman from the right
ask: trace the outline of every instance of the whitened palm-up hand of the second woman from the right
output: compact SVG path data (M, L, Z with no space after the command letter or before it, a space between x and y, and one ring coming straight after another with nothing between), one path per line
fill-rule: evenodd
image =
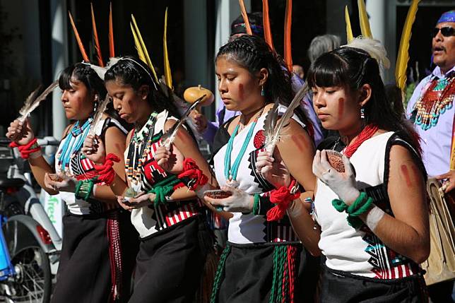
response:
M249 213L253 210L254 196L250 196L246 191L235 189L230 186L223 186L221 190L228 191L232 194L228 198L215 199L208 196L203 198L213 206L222 206L223 210L231 213Z

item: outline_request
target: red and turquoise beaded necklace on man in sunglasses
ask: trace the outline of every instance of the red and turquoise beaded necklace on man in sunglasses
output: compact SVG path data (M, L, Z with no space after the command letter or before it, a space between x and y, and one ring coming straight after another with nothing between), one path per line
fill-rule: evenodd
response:
M423 96L415 105L414 123L426 131L437 125L439 116L453 106L455 97L455 72L446 78L434 78L428 83Z

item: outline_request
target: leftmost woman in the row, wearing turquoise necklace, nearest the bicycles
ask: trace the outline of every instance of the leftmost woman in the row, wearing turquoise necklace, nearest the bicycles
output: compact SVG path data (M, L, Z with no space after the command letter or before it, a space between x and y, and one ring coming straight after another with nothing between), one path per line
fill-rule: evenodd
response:
M49 194L60 194L69 209L63 219L63 244L52 302L107 303L114 299L126 302L134 267L131 255L138 246L128 212L119 208L109 186L95 185L78 196L71 186L74 182L68 179L90 179L96 174L93 162L82 155L81 148L96 104L106 96L105 86L95 71L83 63L64 69L59 86L63 90L61 101L66 118L73 121L64 131L55 162L55 172L59 178L65 174L65 180L53 181L56 180L52 177L54 168L40 151L29 158L38 184ZM123 153L125 129L107 114L103 119L96 133L107 143L109 152ZM19 145L26 145L34 138L28 121L22 124L18 120L11 123L7 136ZM123 162L115 164L114 170L122 172Z

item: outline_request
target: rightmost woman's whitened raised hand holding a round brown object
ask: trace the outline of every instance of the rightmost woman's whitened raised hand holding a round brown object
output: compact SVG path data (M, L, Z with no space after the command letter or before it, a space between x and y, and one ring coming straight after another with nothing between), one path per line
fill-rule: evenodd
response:
M331 167L329 160L327 160L327 153L325 150L320 152L317 150L313 159L313 173L324 184L338 195L338 198L350 206L355 199L360 195L360 191L356 187L355 176L351 167L349 159L343 155L343 164L345 172L337 172Z

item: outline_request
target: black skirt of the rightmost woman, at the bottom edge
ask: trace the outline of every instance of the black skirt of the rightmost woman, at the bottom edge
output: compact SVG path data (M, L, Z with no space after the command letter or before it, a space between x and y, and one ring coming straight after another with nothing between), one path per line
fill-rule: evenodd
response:
M423 276L375 279L334 271L327 266L321 277L322 303L426 303Z

